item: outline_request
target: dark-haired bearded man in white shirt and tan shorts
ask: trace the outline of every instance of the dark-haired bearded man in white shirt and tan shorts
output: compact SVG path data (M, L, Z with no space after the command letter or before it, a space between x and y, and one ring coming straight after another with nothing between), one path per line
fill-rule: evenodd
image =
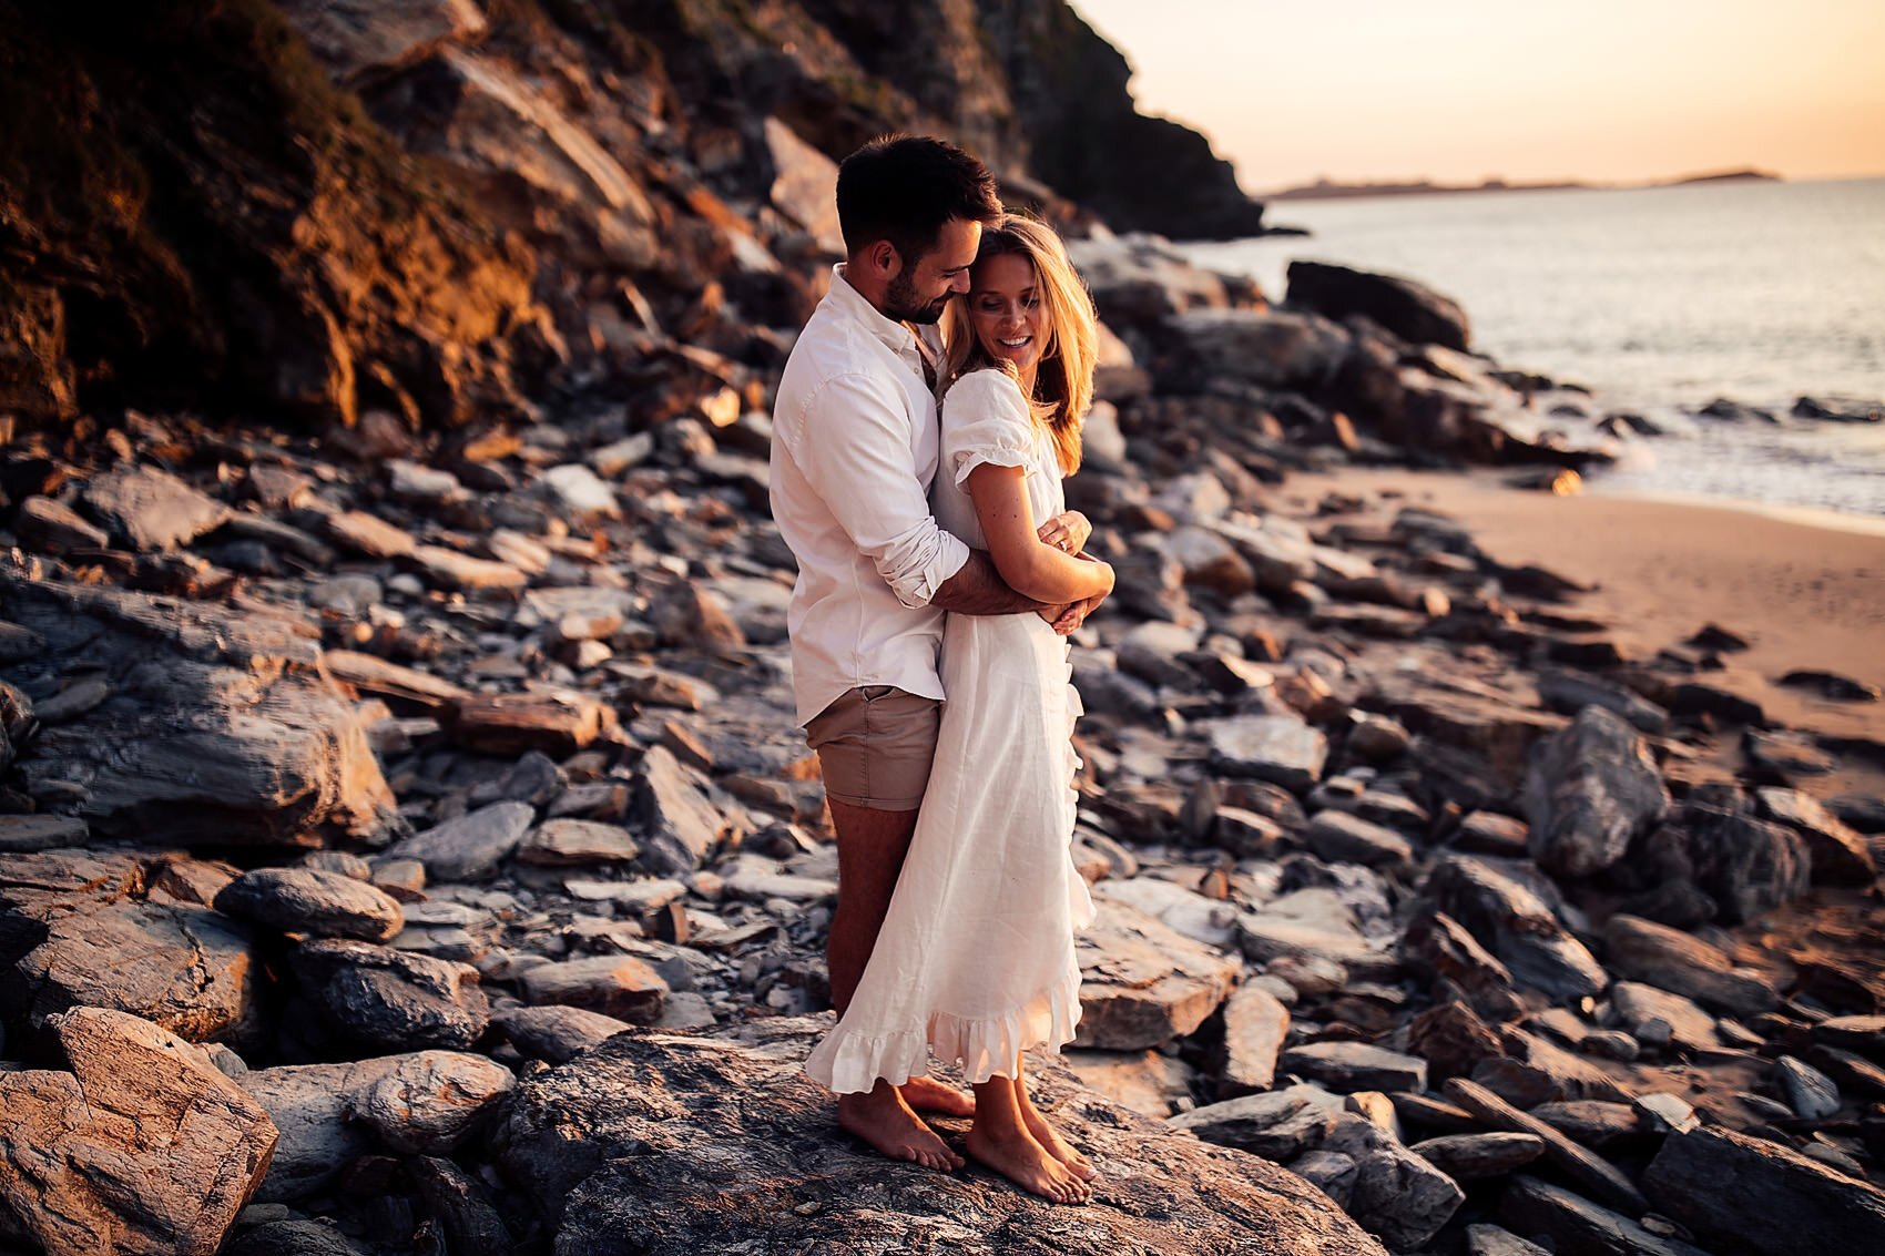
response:
M935 324L969 290L995 179L941 140L875 140L839 168L846 262L799 336L773 405L773 519L799 562L788 624L799 720L824 771L839 901L828 962L839 1015L863 975L929 779L941 724L942 613L1078 607L1010 590L993 562L929 515L941 460ZM912 330L912 328L920 328ZM916 1115L967 1116L971 1099L920 1077L839 1096L839 1124L877 1150L937 1169L961 1158Z

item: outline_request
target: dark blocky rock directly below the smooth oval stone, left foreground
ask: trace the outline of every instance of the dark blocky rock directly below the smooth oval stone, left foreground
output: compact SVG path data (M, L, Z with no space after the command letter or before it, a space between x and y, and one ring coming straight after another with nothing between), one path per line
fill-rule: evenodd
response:
M477 969L449 960L319 939L288 956L302 996L322 1013L317 1030L368 1050L471 1047L490 1022Z

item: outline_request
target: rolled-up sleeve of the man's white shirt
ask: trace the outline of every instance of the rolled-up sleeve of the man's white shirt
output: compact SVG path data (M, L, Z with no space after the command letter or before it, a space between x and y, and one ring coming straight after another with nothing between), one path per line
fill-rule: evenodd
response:
M907 607L924 607L969 562L929 513L909 419L869 375L837 375L807 398L794 458L839 526Z

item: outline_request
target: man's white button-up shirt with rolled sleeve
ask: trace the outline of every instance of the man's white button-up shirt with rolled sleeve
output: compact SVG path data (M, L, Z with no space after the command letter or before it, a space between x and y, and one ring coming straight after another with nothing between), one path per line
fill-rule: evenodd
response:
M786 626L801 724L861 685L942 698L929 602L969 547L929 513L937 432L916 336L833 268L773 404L773 521L799 560Z

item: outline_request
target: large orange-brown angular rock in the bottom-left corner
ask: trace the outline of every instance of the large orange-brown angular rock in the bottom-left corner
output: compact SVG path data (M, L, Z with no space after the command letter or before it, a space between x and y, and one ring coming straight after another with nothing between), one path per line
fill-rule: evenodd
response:
M275 1150L207 1056L104 1007L55 1016L72 1073L0 1073L0 1201L47 1252L213 1256Z

